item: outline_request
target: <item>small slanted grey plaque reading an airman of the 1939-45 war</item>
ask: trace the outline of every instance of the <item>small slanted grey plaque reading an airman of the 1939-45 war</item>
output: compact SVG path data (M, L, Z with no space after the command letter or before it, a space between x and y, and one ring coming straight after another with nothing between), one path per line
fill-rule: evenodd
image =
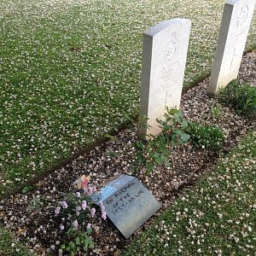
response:
M137 177L121 175L91 196L102 201L108 218L128 238L160 209L160 202L143 186Z

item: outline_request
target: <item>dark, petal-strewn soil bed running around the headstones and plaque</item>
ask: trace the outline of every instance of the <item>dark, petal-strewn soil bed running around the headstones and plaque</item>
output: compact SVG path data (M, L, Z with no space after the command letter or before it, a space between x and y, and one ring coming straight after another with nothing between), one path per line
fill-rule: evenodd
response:
M243 57L239 78L256 85L256 53ZM248 130L255 127L255 120L237 115L233 110L221 107L221 116L213 119L211 109L217 99L207 95L208 79L188 90L182 96L181 109L187 119L214 124L225 132L223 152L234 147ZM212 107L213 106L213 107ZM135 160L134 143L137 142L137 127L120 131L114 139L103 143L90 152L80 155L67 166L55 170L36 184L34 191L27 194L11 195L1 201L0 223L14 232L20 241L38 255L57 255L57 247L61 243L61 230L54 221L54 209L57 201L72 189L72 183L78 177L90 175L92 183L100 189L102 185L125 173L135 175L161 202L162 208L146 224L143 224L131 238L125 240L113 224L107 219L94 224L93 237L95 249L88 255L119 255L125 245L139 233L147 229L154 218L166 207L172 205L175 198L184 189L190 187L207 172L218 160L218 154L203 148L194 148L191 144L172 148L170 160L172 167L157 167L150 177L145 170L131 173ZM32 207L39 202L39 207Z

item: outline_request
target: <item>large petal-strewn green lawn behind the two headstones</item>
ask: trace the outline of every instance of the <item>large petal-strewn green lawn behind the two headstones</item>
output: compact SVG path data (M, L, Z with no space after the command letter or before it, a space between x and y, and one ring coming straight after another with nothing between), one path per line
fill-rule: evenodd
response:
M184 86L206 76L223 9L223 0L2 0L0 196L136 117L150 26L191 19ZM247 49L255 37L251 29Z

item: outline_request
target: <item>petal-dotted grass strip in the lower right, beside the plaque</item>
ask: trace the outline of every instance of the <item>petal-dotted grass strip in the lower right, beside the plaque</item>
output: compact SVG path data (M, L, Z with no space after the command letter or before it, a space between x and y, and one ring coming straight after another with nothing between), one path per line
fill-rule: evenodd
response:
M255 255L255 142L256 130L122 255Z

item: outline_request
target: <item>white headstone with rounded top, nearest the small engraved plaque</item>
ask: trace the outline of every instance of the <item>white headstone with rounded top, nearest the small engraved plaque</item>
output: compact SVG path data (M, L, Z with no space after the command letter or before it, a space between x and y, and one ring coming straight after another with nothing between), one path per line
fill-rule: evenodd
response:
M147 119L139 128L143 137L160 133L156 119L163 119L166 107L179 108L190 26L190 20L172 19L144 32L140 116Z

